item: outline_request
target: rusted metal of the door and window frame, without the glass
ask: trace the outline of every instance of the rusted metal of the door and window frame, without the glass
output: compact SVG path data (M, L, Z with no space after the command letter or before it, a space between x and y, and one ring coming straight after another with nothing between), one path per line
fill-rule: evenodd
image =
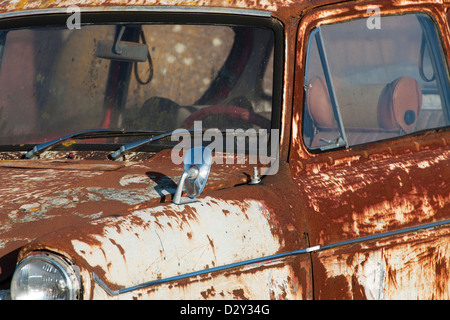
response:
M304 74L313 26L383 13L425 12L448 39L445 11L431 2L371 2L324 7L299 26L297 73ZM449 41L444 41L449 50ZM448 54L447 54L448 56ZM295 88L290 167L301 198L311 245L327 245L408 226L443 221L450 214L448 130L311 154L301 141L303 77ZM448 299L448 227L408 233L312 254L318 299Z

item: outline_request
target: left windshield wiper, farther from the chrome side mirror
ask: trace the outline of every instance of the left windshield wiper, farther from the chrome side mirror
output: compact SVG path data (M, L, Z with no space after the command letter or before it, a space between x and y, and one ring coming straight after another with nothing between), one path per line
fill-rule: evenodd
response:
M160 134L161 131L145 131L145 130L111 130L111 129L88 129L79 131L76 133L68 134L66 136L63 136L61 138L57 138L48 142L44 142L41 144L38 144L33 147L33 149L29 150L24 156L24 159L32 159L36 158L39 154L44 152L45 150L54 147L55 145L58 145L68 139L89 139L89 138L101 138L101 137L117 137L119 135L155 135Z

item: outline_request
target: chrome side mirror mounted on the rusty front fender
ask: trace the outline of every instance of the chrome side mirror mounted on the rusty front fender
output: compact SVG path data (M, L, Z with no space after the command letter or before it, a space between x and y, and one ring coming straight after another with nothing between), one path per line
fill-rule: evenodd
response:
M186 153L183 174L173 197L173 203L186 204L197 201L195 198L202 193L208 180L211 163L212 151L207 147L192 148ZM181 197L183 187L186 189L188 198Z

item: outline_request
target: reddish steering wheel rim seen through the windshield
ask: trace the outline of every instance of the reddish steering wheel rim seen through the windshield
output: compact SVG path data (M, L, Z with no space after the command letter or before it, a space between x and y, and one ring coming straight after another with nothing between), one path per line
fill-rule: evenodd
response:
M226 115L230 118L244 120L255 124L264 129L270 129L271 121L262 115L245 108L229 105L212 105L200 110L194 111L184 120L183 127L191 128L194 121L201 120L212 115Z

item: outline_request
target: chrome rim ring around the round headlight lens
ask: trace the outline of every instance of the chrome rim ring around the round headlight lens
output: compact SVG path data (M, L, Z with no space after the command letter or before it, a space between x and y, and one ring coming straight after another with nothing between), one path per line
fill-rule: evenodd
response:
M56 268L61 275L64 278L65 284L68 287L68 298L67 300L79 300L81 299L81 277L79 268L71 263L69 260L65 259L64 257L55 254L53 252L47 252L47 251L35 251L27 256L25 256L16 267L16 270L14 271L12 280L11 280L11 299L15 300L19 298L17 296L16 288L15 286L18 284L17 277L20 277L20 273L23 270L23 268L33 262L44 262L52 267ZM21 298L23 299L23 298ZM25 300L32 300L33 298L27 298L25 297Z

